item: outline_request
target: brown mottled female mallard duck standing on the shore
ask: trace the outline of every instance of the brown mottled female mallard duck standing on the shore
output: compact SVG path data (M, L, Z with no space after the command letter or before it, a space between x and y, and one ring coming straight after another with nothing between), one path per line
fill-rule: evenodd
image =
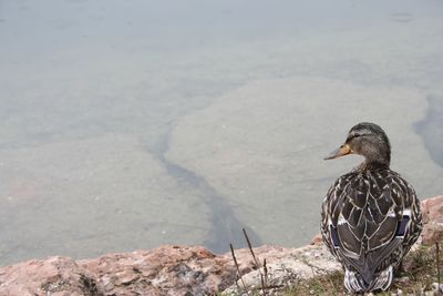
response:
M364 161L328 191L321 234L344 267L350 293L385 290L421 233L420 203L412 186L389 169L391 146L379 125L357 124L326 160L351 153Z

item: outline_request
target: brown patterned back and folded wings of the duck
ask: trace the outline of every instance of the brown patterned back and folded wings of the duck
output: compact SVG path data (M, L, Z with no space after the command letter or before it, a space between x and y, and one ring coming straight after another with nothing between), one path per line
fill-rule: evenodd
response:
M389 170L341 176L328 192L322 216L332 254L368 284L389 266L396 268L421 232L415 192Z

